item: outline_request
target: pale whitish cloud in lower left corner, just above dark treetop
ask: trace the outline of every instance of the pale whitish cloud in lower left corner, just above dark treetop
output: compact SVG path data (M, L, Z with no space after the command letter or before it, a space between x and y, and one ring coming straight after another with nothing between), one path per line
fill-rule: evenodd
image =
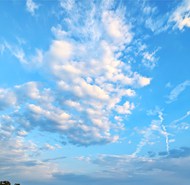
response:
M45 163L32 157L32 154L38 152L38 147L31 141L11 135L6 139L1 139L0 145L3 148L0 153L0 176L5 179L15 179L15 181L16 179L23 181L49 180L51 174L58 171L58 167L54 163Z

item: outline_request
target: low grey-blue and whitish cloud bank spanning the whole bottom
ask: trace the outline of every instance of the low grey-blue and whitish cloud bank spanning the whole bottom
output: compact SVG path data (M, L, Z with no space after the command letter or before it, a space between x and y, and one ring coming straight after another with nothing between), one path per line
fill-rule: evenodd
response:
M10 140L1 142L1 144L4 150L0 156L2 159L0 175L11 179L20 178L23 182L27 181L28 184L34 182L62 184L64 182L70 185L76 183L81 185L89 183L101 185L167 183L168 185L177 185L179 182L183 182L184 185L188 185L189 182L188 172L190 169L187 164L190 162L190 149L188 147L172 149L169 155L166 152L159 152L154 157L109 154L80 157L84 164L88 163L91 167L96 166L97 169L96 172L84 174L58 169L53 161L63 159L63 157L44 161L30 160L23 152L35 151L37 146L33 143L24 143L17 138L14 142Z

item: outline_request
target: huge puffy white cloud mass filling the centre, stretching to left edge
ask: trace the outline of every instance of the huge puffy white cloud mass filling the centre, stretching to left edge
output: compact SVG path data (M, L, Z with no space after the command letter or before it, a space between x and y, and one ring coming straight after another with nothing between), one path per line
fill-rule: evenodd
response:
M36 5L29 5L34 12ZM87 8L61 1L63 20L51 28L55 38L47 50L27 57L6 44L21 64L41 71L48 81L1 89L0 108L21 130L58 133L76 145L118 141L115 128L123 129L123 124L117 117L132 113L136 89L149 85L151 78L123 60L134 33L125 10L114 6L102 1Z

